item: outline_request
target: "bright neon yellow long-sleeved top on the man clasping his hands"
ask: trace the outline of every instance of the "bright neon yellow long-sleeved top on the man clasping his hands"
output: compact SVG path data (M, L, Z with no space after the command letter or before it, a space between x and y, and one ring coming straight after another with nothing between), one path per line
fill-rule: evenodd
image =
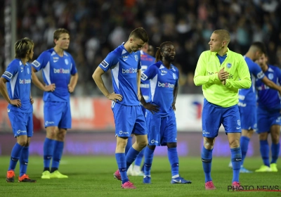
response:
M218 72L224 68L229 73L226 85L221 84ZM202 85L204 97L210 103L228 108L238 103L238 89L249 89L251 77L243 56L228 49L221 64L216 52L201 53L195 70L194 83Z

